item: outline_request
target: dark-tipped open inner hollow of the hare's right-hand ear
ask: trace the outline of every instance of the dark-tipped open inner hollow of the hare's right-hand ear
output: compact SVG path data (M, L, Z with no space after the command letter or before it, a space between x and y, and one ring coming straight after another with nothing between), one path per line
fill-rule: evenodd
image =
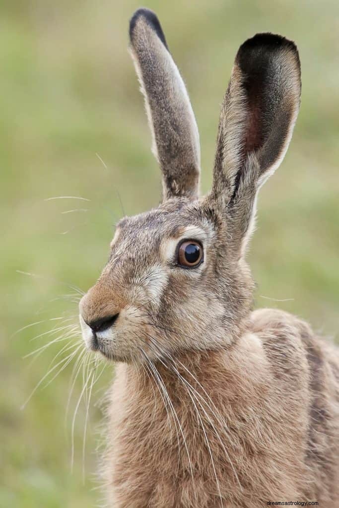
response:
M291 41L257 34L240 46L240 71L246 121L242 163L255 153L263 173L284 155L292 134L300 99L300 63Z

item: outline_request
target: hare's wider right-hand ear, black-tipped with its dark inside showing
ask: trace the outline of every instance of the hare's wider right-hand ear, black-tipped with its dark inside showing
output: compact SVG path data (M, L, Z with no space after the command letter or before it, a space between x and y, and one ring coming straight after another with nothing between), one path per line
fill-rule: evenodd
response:
M295 44L257 34L240 46L222 105L208 200L223 209L241 239L250 228L258 188L282 162L300 103Z

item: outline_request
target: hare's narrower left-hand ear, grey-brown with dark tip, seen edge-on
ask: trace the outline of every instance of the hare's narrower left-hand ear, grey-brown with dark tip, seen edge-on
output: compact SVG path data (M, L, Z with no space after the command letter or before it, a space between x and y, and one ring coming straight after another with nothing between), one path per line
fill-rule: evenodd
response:
M186 87L152 11L136 11L130 22L130 40L152 131L152 150L163 172L164 199L196 198L200 174L198 128Z

